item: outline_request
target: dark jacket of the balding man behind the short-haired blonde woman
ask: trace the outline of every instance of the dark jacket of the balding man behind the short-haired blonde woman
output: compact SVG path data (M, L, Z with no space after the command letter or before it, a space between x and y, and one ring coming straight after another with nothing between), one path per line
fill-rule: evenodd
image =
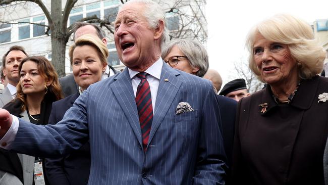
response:
M110 65L108 65L108 67L110 67L110 69L114 71L114 74L120 72L115 70L115 68ZM73 74L59 78L59 83L61 84L62 91L65 97L73 95L76 92L79 92L79 86L76 84Z

